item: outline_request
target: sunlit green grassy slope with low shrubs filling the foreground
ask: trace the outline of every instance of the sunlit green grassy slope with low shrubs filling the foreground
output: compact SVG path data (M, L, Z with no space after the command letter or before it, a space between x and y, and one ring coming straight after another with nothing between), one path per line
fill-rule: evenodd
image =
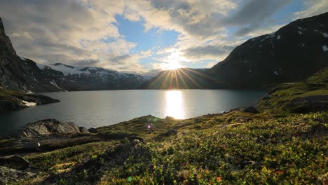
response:
M261 114L238 109L188 120L144 116L98 128L93 142L26 156L41 169L23 184L324 184L327 111L292 114L290 100L327 95L327 71L284 84L259 102ZM153 132L146 125L153 125ZM137 135L143 143L125 136Z

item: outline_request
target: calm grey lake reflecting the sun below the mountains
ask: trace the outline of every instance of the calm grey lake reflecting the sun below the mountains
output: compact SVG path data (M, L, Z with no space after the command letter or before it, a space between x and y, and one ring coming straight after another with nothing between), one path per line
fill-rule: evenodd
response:
M0 136L46 118L97 128L140 116L178 119L248 107L266 95L264 90L101 90L40 93L59 103L0 113Z

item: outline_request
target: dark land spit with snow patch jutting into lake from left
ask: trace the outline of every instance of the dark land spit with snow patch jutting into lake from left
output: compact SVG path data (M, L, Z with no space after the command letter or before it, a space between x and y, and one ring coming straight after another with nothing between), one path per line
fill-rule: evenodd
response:
M0 111L15 111L56 102L60 101L45 95L32 95L21 91L0 89Z

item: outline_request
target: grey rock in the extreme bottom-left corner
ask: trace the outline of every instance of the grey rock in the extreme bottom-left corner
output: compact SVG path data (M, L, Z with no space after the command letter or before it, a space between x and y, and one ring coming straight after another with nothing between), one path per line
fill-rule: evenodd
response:
M0 184L13 184L14 182L22 181L22 179L35 176L36 174L32 172L24 172L10 167L0 166Z

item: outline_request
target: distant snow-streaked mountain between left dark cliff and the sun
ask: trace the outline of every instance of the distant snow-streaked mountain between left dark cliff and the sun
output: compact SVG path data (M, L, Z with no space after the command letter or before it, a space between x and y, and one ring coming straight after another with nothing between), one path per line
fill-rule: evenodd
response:
M142 76L119 73L102 67L73 67L61 63L37 66L77 90L135 89L146 82ZM50 83L57 85L55 81Z

